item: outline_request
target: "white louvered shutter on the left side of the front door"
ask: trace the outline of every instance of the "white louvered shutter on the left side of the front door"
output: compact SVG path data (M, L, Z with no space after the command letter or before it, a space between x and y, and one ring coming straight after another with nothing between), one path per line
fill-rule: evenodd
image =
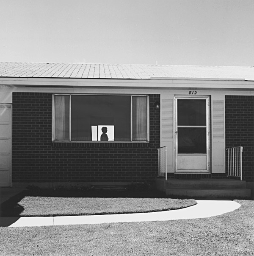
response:
M174 95L160 96L160 146L167 146L167 172L174 172Z

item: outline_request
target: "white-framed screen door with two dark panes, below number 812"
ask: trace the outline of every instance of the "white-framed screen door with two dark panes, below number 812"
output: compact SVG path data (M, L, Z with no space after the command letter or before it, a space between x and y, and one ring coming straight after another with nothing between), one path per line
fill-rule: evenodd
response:
M176 172L209 172L209 97L175 98Z

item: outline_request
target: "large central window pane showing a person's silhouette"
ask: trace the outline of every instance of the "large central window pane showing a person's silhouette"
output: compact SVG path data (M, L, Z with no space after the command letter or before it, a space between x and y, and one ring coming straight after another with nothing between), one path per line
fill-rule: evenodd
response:
M130 96L72 95L72 141L130 141Z

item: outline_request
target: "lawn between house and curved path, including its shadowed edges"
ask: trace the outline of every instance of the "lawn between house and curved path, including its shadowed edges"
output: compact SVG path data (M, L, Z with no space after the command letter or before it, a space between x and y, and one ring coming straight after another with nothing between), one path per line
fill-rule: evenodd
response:
M174 210L196 204L193 199L163 197L164 194L146 184L124 191L32 188L24 198L7 204L2 216L122 214Z

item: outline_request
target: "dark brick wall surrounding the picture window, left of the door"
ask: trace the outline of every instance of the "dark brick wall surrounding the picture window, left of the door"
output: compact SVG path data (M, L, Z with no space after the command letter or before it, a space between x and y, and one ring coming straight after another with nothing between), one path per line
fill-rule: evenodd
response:
M53 143L52 94L13 93L13 181L145 181L157 177L159 95L150 95L149 143Z

